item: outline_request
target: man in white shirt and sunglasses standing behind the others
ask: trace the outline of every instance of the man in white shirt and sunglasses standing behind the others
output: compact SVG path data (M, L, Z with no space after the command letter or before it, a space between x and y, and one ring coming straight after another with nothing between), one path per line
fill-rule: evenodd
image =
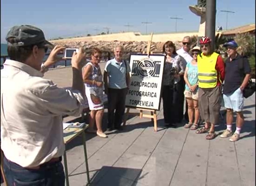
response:
M191 38L189 36L185 36L182 40L182 48L176 51L177 54L182 56L182 62L184 64L190 63L193 60L193 58L189 54L190 46L191 46ZM184 82L184 87L185 87L185 81L183 76L181 76L181 80ZM189 121L187 101L186 101L186 111L184 113L184 119Z

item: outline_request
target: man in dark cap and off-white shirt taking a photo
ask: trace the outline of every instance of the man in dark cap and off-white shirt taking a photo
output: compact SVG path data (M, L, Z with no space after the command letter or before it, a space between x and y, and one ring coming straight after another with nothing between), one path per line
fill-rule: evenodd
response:
M62 115L81 114L84 108L81 61L74 53L72 91L43 78L65 48L53 46L37 27L12 27L6 37L6 60L1 70L1 149L8 185L64 186Z

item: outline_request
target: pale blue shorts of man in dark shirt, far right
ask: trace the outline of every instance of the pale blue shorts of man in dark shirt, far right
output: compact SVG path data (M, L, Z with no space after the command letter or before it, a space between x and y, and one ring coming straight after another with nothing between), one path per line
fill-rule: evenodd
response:
M232 94L223 94L224 106L235 112L243 111L243 91L240 87Z

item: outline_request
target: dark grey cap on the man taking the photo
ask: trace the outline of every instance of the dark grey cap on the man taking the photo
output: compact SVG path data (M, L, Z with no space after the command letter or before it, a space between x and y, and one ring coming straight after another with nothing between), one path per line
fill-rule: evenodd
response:
M9 38L15 38L17 42L9 43ZM53 45L45 39L44 33L40 28L31 25L21 25L12 27L7 33L6 40L9 45L30 46L44 42L45 45Z

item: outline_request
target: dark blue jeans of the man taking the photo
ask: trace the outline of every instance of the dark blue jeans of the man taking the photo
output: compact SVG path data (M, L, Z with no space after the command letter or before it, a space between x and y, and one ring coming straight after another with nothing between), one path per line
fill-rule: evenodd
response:
M39 169L27 169L4 157L8 186L65 186L61 161L45 163Z

